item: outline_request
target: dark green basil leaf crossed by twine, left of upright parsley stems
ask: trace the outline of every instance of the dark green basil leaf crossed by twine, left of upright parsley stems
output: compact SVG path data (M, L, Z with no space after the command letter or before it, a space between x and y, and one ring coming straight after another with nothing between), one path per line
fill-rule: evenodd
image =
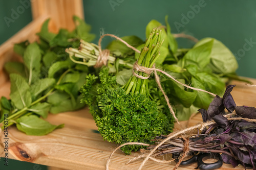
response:
M134 35L121 37L121 39L135 48L144 43L139 37ZM125 55L131 55L134 53L134 50L132 50L130 47L127 47L123 42L119 40L113 40L108 44L106 48L109 49L116 56L121 55L125 57Z

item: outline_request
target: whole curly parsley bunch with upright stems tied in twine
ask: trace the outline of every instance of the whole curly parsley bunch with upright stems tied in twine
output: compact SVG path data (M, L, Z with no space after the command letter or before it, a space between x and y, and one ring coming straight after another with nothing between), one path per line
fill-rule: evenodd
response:
M148 68L153 66L160 54L160 40L161 31L153 29L141 50L137 61L139 65ZM147 77L143 72L137 74ZM135 76L130 77L120 87L117 76L109 74L109 68L104 67L99 77L87 76L87 82L81 90L82 101L89 105L104 140L118 144L131 141L152 143L151 140L157 134L168 134L172 131L174 118L165 109L165 103L159 103L160 95L154 89L154 83ZM150 91L150 88L154 90ZM121 150L130 154L140 148L138 145L126 145Z

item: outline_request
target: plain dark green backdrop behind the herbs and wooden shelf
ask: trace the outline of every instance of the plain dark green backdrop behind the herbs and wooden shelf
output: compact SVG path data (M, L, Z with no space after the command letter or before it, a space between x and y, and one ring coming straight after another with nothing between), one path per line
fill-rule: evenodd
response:
M102 33L120 37L137 35L144 39L147 23L151 19L164 23L164 16L168 15L173 33L186 33L198 39L214 37L221 40L237 55L238 74L256 78L256 1L87 0L83 4L86 21L97 35L95 43ZM24 12L19 11L19 16L15 16L16 19L8 27L6 17L12 18L13 10L17 11L20 5L20 0L0 2L0 44L32 20L31 9L28 8ZM185 20L184 16L188 19ZM177 28L177 25L180 27ZM104 44L108 41L110 39L106 38ZM179 42L181 47L193 45L186 40Z

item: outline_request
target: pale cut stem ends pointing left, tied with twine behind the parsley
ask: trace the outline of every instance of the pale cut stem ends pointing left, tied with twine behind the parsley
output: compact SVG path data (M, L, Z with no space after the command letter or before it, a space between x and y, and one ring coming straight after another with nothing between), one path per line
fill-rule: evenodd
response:
M79 48L67 48L66 52L70 54L70 59L77 64L83 64L87 66L94 66L97 63L98 56L100 55L99 46L94 43L89 43L84 40L80 41ZM76 59L74 58L76 57ZM78 61L82 59L82 61ZM112 64L115 63L116 57L114 57L111 53L108 56L108 61ZM119 64L126 66L127 68L133 68L133 65L129 63L130 61L124 61L119 59Z

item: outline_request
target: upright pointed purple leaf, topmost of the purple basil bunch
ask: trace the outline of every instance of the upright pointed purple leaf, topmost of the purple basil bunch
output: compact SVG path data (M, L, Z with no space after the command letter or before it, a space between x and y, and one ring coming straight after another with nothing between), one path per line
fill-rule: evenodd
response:
M236 103L234 103L232 95L230 94L234 86L236 85L228 85L223 95L223 104L230 113L232 113L237 106Z

